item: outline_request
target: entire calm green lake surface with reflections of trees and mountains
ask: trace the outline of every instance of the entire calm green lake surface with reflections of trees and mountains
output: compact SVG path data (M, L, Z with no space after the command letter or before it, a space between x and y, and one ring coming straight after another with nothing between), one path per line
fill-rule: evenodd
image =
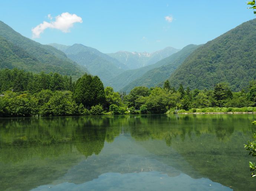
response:
M0 190L255 190L256 115L0 118Z

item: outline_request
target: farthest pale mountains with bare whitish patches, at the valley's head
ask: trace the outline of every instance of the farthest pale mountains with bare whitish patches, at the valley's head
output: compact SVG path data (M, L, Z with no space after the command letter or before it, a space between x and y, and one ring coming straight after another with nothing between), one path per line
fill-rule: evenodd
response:
M166 47L163 50L159 50L153 53L118 51L108 55L127 65L129 69L136 69L155 64L161 59L164 59L178 51L179 50L176 48Z

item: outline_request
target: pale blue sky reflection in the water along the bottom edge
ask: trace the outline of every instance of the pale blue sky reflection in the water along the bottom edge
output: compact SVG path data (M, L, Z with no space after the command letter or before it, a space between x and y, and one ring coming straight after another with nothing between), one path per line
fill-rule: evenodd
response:
M105 173L92 181L74 184L42 185L33 190L231 190L207 178L193 179L186 174L169 177L157 171Z

